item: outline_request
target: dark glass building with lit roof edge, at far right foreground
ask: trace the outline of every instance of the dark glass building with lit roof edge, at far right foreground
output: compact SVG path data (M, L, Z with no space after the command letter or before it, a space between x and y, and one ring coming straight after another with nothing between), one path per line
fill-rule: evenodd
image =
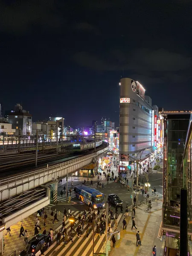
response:
M190 251L192 252L190 248L192 235L190 114L191 111L159 112L163 118L164 138L162 230L165 235L166 256L177 255L178 249L182 252L180 255L191 255Z

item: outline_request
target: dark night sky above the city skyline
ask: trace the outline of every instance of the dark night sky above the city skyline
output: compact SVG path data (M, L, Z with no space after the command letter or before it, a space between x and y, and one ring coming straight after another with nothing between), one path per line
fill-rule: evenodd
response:
M152 104L192 109L192 1L4 0L0 102L33 120L119 123L119 79L140 81ZM117 111L117 112L116 112Z

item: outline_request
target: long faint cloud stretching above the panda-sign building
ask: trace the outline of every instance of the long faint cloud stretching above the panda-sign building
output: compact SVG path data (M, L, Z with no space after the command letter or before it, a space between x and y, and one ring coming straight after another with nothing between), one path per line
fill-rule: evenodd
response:
M135 49L130 53L115 50L103 57L88 52L79 52L74 55L74 59L82 67L103 71L124 69L139 73L175 72L192 66L191 58L166 49Z

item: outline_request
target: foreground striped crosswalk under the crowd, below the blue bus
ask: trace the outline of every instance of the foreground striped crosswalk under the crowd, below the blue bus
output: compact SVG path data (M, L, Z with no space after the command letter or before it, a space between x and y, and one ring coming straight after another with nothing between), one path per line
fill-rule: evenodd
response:
M72 214L77 218L79 213L83 213L80 211L72 211ZM117 222L118 224L121 221L122 213L119 214ZM99 217L96 218L96 223L99 221ZM74 230L78 227L79 223L76 221ZM67 232L70 230L70 222L69 219L66 221L65 227L67 228ZM90 234L88 238L86 237L87 227L90 227ZM111 227L114 231L114 220L111 221ZM51 247L47 251L44 252L44 255L47 256L64 256L64 255L73 255L73 256L92 256L92 247L93 247L93 228L92 224L85 222L84 228L82 230L81 237L77 236L77 233L74 232L73 242L69 241L66 245L64 245L63 239L61 239L61 244L56 243L56 237L58 230L61 230L61 226L55 230L55 234L53 237L53 242ZM102 234L100 237L96 233L96 225L95 225L95 235L94 235L94 251L95 252L103 252L103 244L105 242L105 234ZM61 236L62 237L62 236Z

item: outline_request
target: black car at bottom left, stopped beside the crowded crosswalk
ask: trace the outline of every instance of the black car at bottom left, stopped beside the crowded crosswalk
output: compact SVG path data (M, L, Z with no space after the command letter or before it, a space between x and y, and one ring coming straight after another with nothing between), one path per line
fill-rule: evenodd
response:
M40 256L42 245L44 245L43 250L46 251L51 246L51 237L43 234L34 236L19 256Z

